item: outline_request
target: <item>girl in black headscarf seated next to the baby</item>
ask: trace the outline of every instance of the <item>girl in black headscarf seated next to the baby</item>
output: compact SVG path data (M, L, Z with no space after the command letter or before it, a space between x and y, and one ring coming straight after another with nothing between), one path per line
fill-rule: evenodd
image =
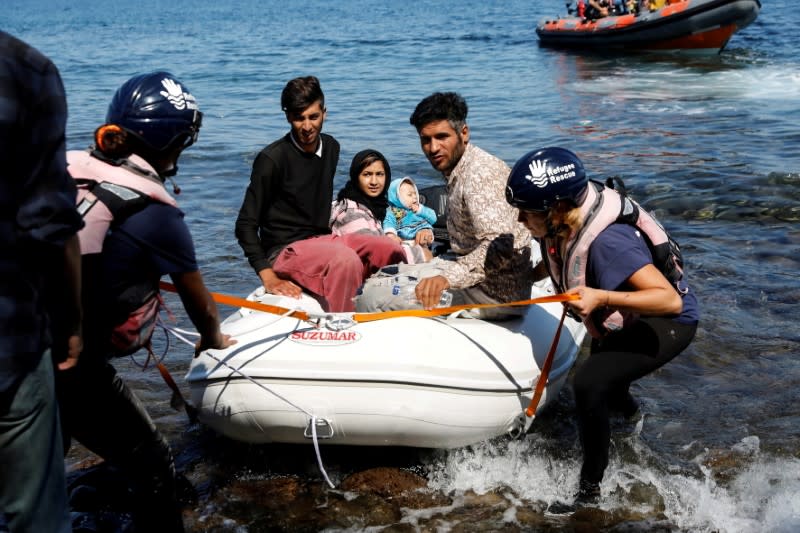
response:
M383 220L389 210L387 194L391 179L389 161L383 154L372 149L357 153L350 163L350 180L339 191L331 208L331 232L334 235L384 235ZM420 231L417 240L433 242L433 231ZM430 250L418 242L401 245L408 263L422 263L432 258Z

